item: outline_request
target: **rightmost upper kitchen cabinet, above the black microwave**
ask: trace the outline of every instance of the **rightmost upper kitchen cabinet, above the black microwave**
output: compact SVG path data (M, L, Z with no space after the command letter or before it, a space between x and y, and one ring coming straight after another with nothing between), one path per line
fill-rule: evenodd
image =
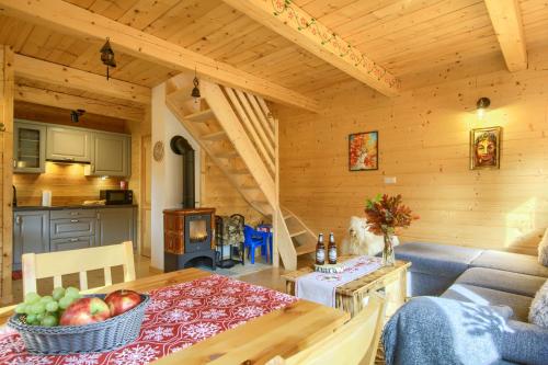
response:
M93 133L91 164L88 175L128 176L130 174L130 138L126 135Z

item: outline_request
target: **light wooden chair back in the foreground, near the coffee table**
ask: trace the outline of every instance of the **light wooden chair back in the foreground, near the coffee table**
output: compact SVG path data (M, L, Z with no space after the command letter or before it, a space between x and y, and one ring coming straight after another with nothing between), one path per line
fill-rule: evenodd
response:
M266 364L372 365L377 354L385 309L386 300L378 294L373 294L367 307L341 329L288 358L276 356Z

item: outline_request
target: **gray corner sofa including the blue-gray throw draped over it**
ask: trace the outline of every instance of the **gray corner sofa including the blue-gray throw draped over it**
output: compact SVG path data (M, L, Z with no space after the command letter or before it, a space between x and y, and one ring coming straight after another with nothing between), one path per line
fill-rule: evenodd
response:
M548 329L527 321L530 303L548 278L548 267L536 256L434 243L406 243L395 251L398 260L412 262L408 295L431 297L410 300L387 324L387 364L443 358L444 364L548 365ZM481 331L464 330L471 324ZM482 335L489 341L479 341ZM448 354L446 347L464 343L467 351ZM433 361L429 356L435 351L418 353L425 344L443 347L445 357ZM489 361L482 361L484 354Z

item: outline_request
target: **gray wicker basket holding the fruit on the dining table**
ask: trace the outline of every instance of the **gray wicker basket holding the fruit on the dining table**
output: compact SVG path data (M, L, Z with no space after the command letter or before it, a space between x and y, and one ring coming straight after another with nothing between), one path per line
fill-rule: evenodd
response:
M104 295L92 295L104 299ZM37 355L62 355L105 352L134 342L139 335L145 310L150 300L141 294L141 303L105 321L84 326L43 327L22 322L21 315L10 318L8 326L23 339L26 351ZM91 297L91 296L89 296Z

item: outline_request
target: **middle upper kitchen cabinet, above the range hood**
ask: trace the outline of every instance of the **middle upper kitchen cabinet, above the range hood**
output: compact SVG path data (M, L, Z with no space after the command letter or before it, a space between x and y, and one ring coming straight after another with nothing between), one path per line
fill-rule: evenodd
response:
M92 133L84 129L47 127L46 159L91 162Z

